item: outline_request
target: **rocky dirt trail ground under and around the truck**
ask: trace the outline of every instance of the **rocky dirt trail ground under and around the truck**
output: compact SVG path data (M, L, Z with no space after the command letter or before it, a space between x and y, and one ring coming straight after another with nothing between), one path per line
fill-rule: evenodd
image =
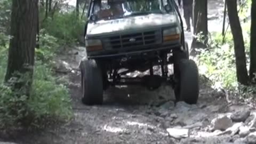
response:
M213 10L216 6L211 7ZM212 17L218 19L219 16ZM218 20L214 22L218 23ZM209 27L215 25L209 23ZM186 33L186 38L191 41L191 33ZM17 134L3 141L20 144L256 143L254 102L240 99L228 102L228 95L212 89L209 80L203 76L197 105L184 102L174 105L173 90L166 84L155 91L142 86L111 87L104 94L102 106L83 105L77 68L85 54L84 47L75 47L57 59L58 69L68 71L59 75L69 79L67 86L73 103L73 121L44 131ZM7 144L0 142L4 143Z

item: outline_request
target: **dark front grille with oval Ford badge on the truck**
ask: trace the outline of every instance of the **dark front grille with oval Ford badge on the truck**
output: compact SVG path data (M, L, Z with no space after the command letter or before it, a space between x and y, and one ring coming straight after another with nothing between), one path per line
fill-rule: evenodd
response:
M126 49L161 43L161 31L144 31L142 33L123 34L109 38L112 49Z

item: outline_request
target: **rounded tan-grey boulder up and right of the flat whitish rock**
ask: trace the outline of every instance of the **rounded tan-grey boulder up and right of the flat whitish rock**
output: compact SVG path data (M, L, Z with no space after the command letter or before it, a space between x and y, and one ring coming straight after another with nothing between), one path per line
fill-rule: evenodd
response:
M214 131L214 130L225 131L232 125L233 125L233 123L230 118L228 118L227 116L219 116L212 120L211 130L212 131Z

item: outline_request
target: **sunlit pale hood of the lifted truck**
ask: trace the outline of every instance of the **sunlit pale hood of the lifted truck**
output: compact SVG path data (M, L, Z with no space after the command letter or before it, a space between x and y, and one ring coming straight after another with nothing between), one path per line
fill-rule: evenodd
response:
M174 25L177 21L175 14L148 14L114 20L90 22L87 26L87 35L115 33L117 31L131 31L143 28Z

